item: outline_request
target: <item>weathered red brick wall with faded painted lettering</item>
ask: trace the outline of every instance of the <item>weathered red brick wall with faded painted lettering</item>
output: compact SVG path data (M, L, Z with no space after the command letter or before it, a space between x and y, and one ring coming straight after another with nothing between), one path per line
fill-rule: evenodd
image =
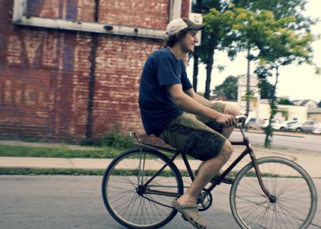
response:
M98 21L165 29L169 1L99 1ZM188 16L183 0L182 15ZM84 138L91 72L90 33L14 26L12 0L0 2L0 137ZM93 21L92 0L29 0L27 14ZM138 83L143 63L162 41L98 35L93 136L113 125L143 133Z

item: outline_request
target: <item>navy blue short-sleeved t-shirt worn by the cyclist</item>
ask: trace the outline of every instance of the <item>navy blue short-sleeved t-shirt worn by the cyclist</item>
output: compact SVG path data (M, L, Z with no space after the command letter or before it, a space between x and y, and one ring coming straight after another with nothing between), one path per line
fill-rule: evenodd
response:
M147 58L139 88L139 107L146 134L159 136L163 127L183 111L178 108L166 85L182 84L183 91L192 88L183 60L167 49L153 52Z

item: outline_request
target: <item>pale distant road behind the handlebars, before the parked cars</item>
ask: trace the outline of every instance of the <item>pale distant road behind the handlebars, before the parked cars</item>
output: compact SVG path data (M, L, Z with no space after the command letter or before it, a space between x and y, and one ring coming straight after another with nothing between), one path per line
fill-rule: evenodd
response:
M250 142L254 144L263 145L265 140L265 134L260 132L246 132L246 136L248 136ZM234 131L230 136L230 139L242 139L240 131ZM272 146L296 148L305 151L317 151L321 153L321 135L275 132L275 135L272 137Z

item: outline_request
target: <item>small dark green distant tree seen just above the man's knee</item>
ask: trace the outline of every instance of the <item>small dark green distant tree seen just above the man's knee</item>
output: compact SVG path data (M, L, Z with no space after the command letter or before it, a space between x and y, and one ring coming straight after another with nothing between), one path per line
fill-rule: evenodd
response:
M215 96L225 96L228 100L238 99L238 78L228 76L222 84L215 86L213 90Z

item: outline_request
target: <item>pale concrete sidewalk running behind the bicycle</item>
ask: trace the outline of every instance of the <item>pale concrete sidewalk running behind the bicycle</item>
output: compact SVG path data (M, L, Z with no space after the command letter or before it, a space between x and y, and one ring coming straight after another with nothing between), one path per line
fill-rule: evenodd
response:
M68 147L78 149L99 149L88 146L72 146L61 145L59 143L27 143L22 141L0 141L0 145L9 146L34 146L34 147ZM237 158L243 152L243 146L235 146L233 156L225 165L229 166L233 159ZM311 151L280 149L280 148L262 148L253 146L255 156L263 158L266 156L279 156L295 161L305 168L312 178L321 178L321 154ZM111 163L112 159L94 159L94 158L19 158L19 157L0 157L0 168L75 168L75 169L91 169L104 170ZM240 170L250 162L250 158L245 156L235 170ZM175 160L176 166L180 170L185 170L183 160ZM193 169L198 168L200 161L190 160L190 166Z

